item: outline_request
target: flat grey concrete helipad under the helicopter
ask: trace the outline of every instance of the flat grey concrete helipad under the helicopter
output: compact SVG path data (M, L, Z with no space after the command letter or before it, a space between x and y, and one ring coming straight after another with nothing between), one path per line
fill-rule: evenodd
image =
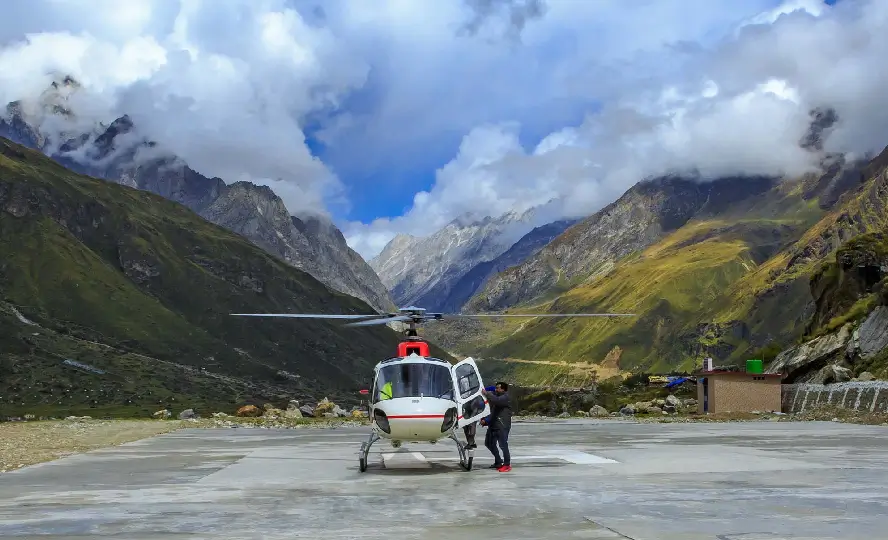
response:
M483 430L479 433L483 436ZM365 473L364 429L186 430L0 475L2 538L885 538L888 428L518 423L511 473L452 443Z

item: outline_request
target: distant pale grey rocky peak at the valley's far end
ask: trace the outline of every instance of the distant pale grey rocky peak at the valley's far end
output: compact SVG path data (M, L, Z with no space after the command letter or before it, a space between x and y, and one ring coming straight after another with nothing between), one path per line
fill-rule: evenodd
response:
M534 212L481 219L465 215L428 237L401 234L370 266L399 305L440 311L466 273L502 255L532 228Z

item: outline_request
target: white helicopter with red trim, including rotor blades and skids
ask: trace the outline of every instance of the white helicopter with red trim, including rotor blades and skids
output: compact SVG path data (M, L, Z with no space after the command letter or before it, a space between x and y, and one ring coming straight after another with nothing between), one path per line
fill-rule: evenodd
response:
M421 339L417 325L446 318L480 317L632 317L632 313L429 313L425 308L409 306L398 313L367 315L309 313L232 313L235 317L286 317L297 319L365 319L345 327L404 323L406 339L398 344L397 355L382 360L374 367L369 394L371 432L361 443L358 466L367 470L370 447L380 439L390 441L393 448L403 443L431 443L452 439L459 453L459 464L472 469L474 448L468 448L457 436L457 430L478 422L490 414L484 398L484 385L478 364L471 357L456 364L431 355L429 344Z

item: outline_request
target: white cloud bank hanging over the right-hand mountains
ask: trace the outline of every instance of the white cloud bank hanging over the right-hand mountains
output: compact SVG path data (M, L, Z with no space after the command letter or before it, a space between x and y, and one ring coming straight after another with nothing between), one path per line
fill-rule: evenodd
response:
M495 214L553 196L561 215L589 215L638 180L670 171L796 175L818 160L799 147L815 107L831 106L840 118L826 150L859 153L888 144L888 72L879 69L888 54L888 3L791 0L735 25L724 39L677 51L643 38L654 48L629 55L639 64L595 87L609 98L604 108L544 138L537 150L518 144L514 124L470 131L427 197L400 218L349 224L349 241L372 256L396 232L425 233L465 210ZM666 69L631 84L638 65L660 60ZM579 80L603 73L577 68Z

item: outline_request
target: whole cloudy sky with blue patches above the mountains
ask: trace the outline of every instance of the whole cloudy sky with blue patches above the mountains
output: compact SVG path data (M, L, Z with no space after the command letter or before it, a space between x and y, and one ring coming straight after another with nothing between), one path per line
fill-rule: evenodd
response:
M795 175L888 144L880 0L6 0L0 101L74 76L207 176L365 258L465 213L590 215L667 172ZM43 128L71 130L43 118Z

